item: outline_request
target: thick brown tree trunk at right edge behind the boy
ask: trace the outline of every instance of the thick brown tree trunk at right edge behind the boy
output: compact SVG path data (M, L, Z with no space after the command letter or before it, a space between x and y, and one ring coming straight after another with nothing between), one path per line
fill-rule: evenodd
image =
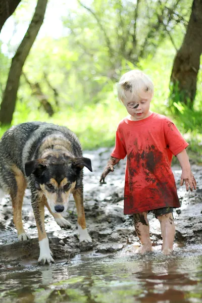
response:
M202 1L193 0L183 43L174 59L170 81L170 100L193 107L197 74L202 52Z

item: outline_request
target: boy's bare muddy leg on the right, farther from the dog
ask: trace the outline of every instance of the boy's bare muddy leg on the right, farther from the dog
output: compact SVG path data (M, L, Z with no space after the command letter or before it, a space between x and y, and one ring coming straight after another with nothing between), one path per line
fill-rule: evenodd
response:
M157 217L161 224L161 233L163 238L162 253L169 255L173 251L173 242L175 237L175 223L173 214L169 213L166 215Z

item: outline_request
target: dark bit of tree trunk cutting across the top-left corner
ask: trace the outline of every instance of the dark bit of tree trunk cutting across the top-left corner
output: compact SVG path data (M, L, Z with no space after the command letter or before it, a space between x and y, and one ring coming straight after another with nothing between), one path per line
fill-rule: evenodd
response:
M21 0L0 0L0 32L7 19L15 12Z

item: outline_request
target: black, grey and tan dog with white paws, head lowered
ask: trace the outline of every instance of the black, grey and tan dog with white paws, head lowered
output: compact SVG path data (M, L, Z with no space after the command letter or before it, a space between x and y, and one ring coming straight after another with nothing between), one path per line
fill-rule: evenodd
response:
M22 223L23 196L27 185L38 230L38 262L54 262L44 227L44 206L61 226L71 226L61 213L73 194L79 240L92 242L83 207L83 167L92 172L91 161L82 156L81 144L67 127L28 122L11 127L0 141L0 189L10 194L19 240L30 238Z

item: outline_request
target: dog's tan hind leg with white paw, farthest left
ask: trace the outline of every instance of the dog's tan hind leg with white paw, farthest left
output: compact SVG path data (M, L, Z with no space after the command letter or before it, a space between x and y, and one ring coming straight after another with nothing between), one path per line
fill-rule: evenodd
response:
M22 204L27 184L21 170L19 170L17 167L14 167L13 173L15 176L15 181L13 180L14 182L10 190L13 206L13 221L18 231L18 240L24 241L30 239L30 236L26 234L22 223Z

